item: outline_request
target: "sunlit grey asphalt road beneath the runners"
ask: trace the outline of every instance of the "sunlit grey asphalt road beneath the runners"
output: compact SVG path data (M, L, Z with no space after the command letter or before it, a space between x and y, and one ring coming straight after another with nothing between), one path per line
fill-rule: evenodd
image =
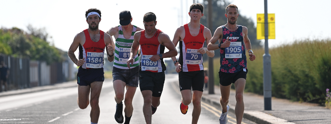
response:
M153 124L190 124L193 105L189 105L187 114L179 110L181 95L175 81L178 76L166 75L161 104L152 116ZM0 123L36 123L36 124L90 124L90 110L77 105L77 87L53 89L34 93L0 97ZM99 124L116 124L115 92L112 82L104 82L100 95ZM143 97L137 88L133 99L131 124L144 124L142 112ZM199 124L218 124L220 108L202 102ZM235 114L228 113L228 124L236 124ZM243 119L243 124L254 124Z

